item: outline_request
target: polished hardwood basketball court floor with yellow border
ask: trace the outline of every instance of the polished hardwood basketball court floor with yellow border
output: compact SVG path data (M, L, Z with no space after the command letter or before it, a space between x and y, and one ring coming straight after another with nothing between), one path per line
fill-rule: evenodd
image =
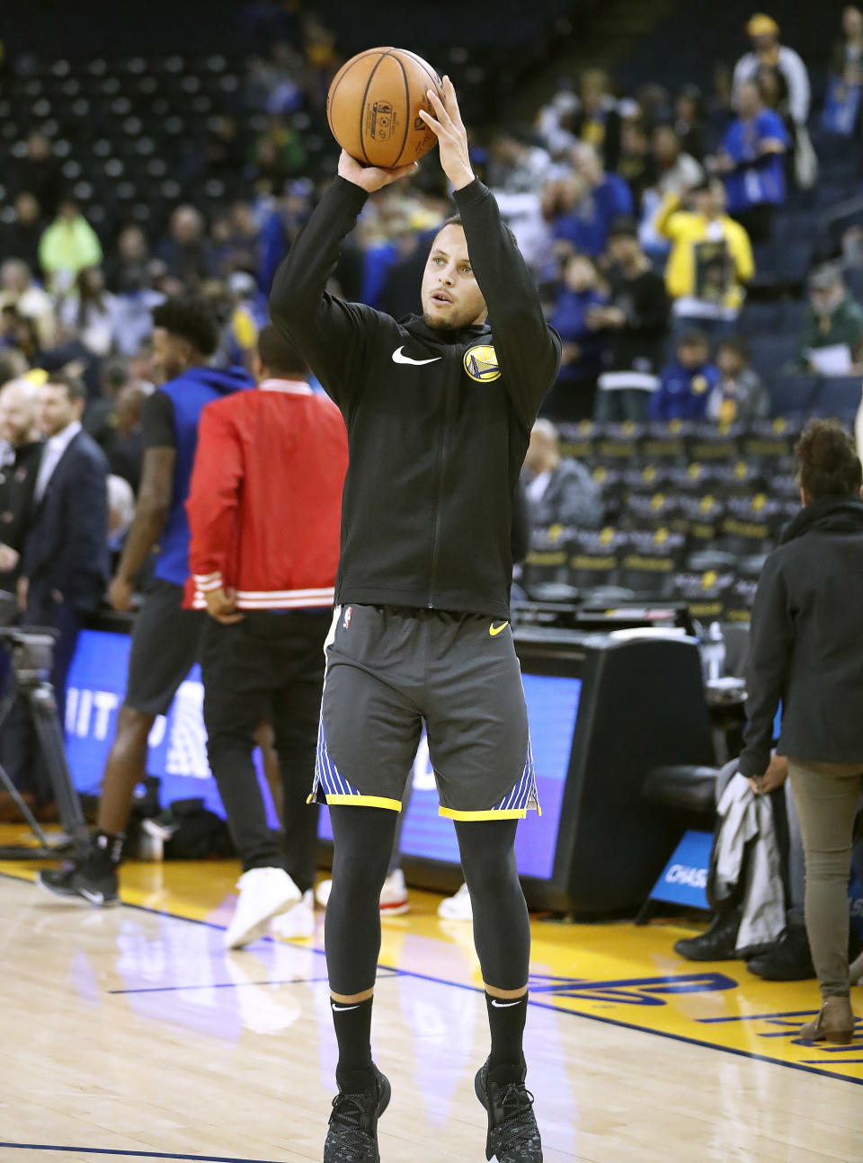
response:
M17 836L0 829L3 841ZM309 941L222 949L237 865L133 864L124 906L58 902L0 864L0 1160L320 1160L335 1039ZM375 1053L384 1163L484 1158L487 1053L470 926L384 922ZM863 1036L796 1040L814 982L693 964L685 932L536 920L526 1053L547 1163L858 1161ZM863 1013L863 990L853 991Z

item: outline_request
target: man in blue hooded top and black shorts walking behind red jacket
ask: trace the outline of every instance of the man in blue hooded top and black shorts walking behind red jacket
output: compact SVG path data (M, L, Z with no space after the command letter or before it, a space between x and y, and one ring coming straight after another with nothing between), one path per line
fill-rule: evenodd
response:
M158 549L154 582L135 622L126 699L105 765L90 851L74 864L38 877L49 892L93 905L119 900L116 869L135 786L147 771L150 729L156 716L167 712L198 658L206 614L183 609L188 576L186 498L198 421L212 400L254 386L242 369L213 365L219 327L205 302L170 299L156 307L152 319L154 363L164 381L144 405L137 512L110 583L112 606L120 612L130 608L135 578Z

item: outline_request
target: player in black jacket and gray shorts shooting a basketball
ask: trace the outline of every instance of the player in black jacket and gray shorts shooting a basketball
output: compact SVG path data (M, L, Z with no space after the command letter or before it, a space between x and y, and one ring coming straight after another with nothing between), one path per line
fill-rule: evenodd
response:
M455 820L486 989L491 1055L476 1077L486 1155L539 1163L525 1087L530 930L516 822L537 807L509 618L512 497L559 340L497 202L471 172L452 85L429 93L461 216L434 241L421 317L399 324L327 293L368 195L406 177L342 154L277 273L271 314L341 408L349 443L336 616L313 794L335 837L326 950L338 1093L324 1163L373 1163L390 1083L370 1030L380 886L422 720L441 814Z

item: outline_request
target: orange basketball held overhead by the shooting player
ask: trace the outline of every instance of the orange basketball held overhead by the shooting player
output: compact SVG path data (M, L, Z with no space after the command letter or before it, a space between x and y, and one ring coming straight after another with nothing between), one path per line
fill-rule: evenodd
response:
M427 154L437 138L420 116L434 115L426 91L443 98L441 78L407 49L368 49L333 78L327 120L333 136L357 162L393 170Z

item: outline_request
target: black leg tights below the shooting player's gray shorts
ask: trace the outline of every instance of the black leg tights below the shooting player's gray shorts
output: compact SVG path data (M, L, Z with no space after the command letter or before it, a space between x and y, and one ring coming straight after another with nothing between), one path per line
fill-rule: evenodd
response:
M380 890L390 866L397 813L331 807L333 891L324 946L329 987L348 997L375 985L380 954ZM518 820L456 821L473 906L473 942L483 980L498 990L527 985L530 926L515 866Z

